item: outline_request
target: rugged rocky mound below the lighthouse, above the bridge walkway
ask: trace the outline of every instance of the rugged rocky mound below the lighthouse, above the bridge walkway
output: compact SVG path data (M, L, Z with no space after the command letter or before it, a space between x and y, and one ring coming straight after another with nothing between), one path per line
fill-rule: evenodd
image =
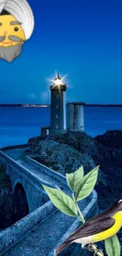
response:
M51 139L39 140L35 147L34 144L29 147L30 150L32 154L38 155L35 157L37 161L63 175L75 172L81 165L85 174L95 167L94 161L88 154L81 154L73 147ZM101 170L99 170L98 182L105 184L105 175Z

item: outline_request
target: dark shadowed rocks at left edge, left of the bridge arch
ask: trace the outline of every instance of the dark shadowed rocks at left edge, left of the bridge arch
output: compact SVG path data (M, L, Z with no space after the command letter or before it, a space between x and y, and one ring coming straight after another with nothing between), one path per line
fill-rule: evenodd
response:
M12 189L4 166L0 165L0 228L13 224Z

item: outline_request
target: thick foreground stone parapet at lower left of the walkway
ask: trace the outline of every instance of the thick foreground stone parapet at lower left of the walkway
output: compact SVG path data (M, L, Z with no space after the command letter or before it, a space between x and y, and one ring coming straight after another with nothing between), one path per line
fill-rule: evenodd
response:
M51 213L57 211L52 202L46 202L37 210L28 214L26 217L17 221L15 224L0 232L0 255L18 243L27 233L31 232L38 224L41 223Z

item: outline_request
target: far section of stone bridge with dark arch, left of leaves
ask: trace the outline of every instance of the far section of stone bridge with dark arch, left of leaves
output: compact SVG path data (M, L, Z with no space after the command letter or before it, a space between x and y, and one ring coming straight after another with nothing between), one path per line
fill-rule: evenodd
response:
M6 174L11 180L15 211L23 205L24 216L49 201L42 184L48 187L62 187L62 184L66 184L61 174L56 174L44 165L39 164L38 167L38 163L31 158L26 157L26 160L15 161L0 151L0 162L6 167Z

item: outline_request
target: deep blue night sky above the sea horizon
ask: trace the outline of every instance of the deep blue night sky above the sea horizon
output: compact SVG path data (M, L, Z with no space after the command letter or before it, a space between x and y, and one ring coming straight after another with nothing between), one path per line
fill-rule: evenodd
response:
M68 101L122 103L122 2L28 2L35 31L19 58L0 60L0 103L50 102L56 70Z

